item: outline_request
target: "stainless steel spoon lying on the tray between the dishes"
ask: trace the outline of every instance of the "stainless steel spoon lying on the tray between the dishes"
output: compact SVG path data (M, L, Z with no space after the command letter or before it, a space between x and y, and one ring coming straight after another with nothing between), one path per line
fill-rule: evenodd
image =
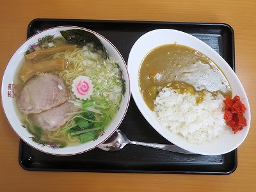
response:
M194 154L192 152L189 152L188 150L184 150L183 148L177 147L176 145L164 145L157 143L130 141L127 138L127 136L125 136L124 132L122 132L120 129L117 129L116 132L114 132L112 136L108 138L108 140L104 141L104 143L100 144L98 147L106 151L116 151L125 147L126 144L142 145L145 147L158 148L181 154Z

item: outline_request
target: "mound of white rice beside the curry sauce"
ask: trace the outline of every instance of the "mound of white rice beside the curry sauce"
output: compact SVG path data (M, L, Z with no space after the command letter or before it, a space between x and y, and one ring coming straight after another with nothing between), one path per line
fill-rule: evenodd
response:
M212 96L205 92L204 100L199 104L196 97L197 93L180 94L163 88L154 100L154 111L163 127L182 134L190 143L200 144L220 136L227 125L223 119L223 95Z

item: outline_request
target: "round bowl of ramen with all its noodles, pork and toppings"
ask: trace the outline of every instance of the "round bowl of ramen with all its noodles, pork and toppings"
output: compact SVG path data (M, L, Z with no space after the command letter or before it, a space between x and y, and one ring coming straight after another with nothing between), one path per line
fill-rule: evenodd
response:
M76 26L46 29L20 45L5 68L1 93L20 139L60 156L107 140L131 95L120 52L99 33Z

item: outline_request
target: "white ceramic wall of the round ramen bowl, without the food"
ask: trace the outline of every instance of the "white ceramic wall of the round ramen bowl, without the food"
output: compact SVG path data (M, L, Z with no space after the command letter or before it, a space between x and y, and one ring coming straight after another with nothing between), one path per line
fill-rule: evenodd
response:
M31 134L22 127L22 124L20 122L20 119L17 116L17 113L15 112L15 97L12 98L12 87L13 87L13 79L15 78L15 72L16 68L19 68L19 63L24 58L24 52L29 48L29 46L33 45L35 42L38 41L39 38L44 37L45 35L54 35L54 38L61 36L60 30L67 30L67 29L83 29L85 31L90 31L94 35L96 35L104 44L106 49L108 50L109 56L113 57L116 61L118 61L120 68L122 68L123 76L126 84L126 92L124 97L122 98L122 102L120 104L120 109L118 113L116 113L115 118L109 124L109 126L104 131L104 134L101 134L97 140L89 141L88 143L83 143L80 145L72 146L72 147L65 147L65 148L54 148L49 145L39 145L38 143L35 143L31 140ZM2 82L2 103L4 112L6 114L6 117L8 118L8 121L10 122L10 125L12 126L13 130L18 134L18 136L26 142L28 145L30 145L33 148L36 148L37 150L40 150L42 152L45 152L47 154L54 154L54 155L74 155L74 154L80 154L82 152L86 152L88 150L91 150L100 143L104 142L113 134L113 132L116 131L118 126L121 124L125 113L127 111L127 108L129 106L129 100L130 100L130 81L129 81L129 75L127 72L127 66L125 64L124 58L122 58L122 55L120 52L116 49L116 47L109 42L108 39L104 38L104 36L95 33L94 31L90 29L84 29L74 26L61 26L51 29L46 29L44 31L41 31L40 33L37 33L34 36L31 36L26 42L24 42L20 47L15 51L12 58L10 59L8 65L6 66L6 69L4 71L3 76L3 82Z

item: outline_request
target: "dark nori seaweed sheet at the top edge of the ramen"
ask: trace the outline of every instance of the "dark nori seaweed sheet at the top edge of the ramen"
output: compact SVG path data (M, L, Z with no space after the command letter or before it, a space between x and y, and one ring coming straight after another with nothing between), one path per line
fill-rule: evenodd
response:
M76 44L83 47L86 44L93 44L94 51L101 50L103 52L104 59L108 59L108 51L102 44L102 42L93 33L84 31L82 29L70 29L66 31L60 31L61 35L68 41L69 44Z

